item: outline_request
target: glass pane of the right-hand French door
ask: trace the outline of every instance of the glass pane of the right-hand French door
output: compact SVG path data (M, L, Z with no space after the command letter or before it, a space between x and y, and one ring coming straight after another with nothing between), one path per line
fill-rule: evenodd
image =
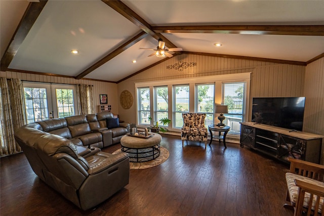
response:
M73 90L56 89L56 101L59 118L75 115Z

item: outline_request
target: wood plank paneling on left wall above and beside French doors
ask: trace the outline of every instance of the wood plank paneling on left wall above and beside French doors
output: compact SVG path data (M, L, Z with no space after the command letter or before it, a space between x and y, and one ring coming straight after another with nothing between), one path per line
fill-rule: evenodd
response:
M26 81L64 83L64 84L89 84L93 85L94 111L98 112L100 105L99 95L107 94L108 104L111 105L112 112L118 114L117 84L110 82L100 82L86 79L73 79L68 77L48 76L31 73L20 73L11 71L0 71L0 76L7 78L19 78Z

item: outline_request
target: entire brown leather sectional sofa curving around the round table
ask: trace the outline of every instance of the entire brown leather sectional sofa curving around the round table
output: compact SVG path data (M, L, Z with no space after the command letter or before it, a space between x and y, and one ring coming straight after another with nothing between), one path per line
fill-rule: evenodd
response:
M129 124L107 129L106 117L113 116L77 115L26 124L15 131L35 174L83 210L129 183L128 154L100 149L118 143L129 132Z

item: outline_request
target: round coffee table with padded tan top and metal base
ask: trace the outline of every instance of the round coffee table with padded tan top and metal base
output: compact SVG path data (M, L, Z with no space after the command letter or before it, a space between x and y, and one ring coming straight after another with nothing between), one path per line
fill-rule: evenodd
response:
M129 154L131 162L154 160L160 155L161 135L151 133L149 138L125 135L120 139L121 151Z

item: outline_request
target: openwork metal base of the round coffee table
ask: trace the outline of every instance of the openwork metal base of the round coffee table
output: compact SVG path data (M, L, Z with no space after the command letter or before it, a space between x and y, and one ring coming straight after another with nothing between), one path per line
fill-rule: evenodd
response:
M121 146L121 151L129 154L131 162L146 162L160 155L160 144L147 148L128 148Z

